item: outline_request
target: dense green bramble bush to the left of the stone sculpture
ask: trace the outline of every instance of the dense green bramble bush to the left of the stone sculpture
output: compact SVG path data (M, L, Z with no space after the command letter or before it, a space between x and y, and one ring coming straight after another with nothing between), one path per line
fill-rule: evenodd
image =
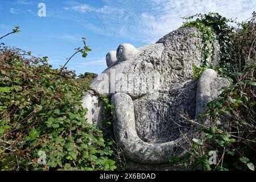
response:
M81 80L24 54L0 50L0 169L114 170L112 142L84 118Z

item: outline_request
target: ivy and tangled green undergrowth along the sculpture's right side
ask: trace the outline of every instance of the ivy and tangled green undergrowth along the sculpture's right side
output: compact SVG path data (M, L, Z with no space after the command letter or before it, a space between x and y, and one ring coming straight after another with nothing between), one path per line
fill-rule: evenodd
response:
M199 133L192 138L191 150L184 156L183 164L193 170L254 171L256 14L234 27L228 26L233 20L218 14L196 16L199 18L184 26L198 28L204 45L213 43L213 31L220 44L221 59L217 65L205 64L209 49L203 46L204 64L193 65L194 77L199 78L204 69L213 68L228 77L231 85L221 88L220 96L209 102L208 110L201 113L201 123L197 124ZM191 18L194 16L187 19ZM217 155L216 163L210 163L212 154Z

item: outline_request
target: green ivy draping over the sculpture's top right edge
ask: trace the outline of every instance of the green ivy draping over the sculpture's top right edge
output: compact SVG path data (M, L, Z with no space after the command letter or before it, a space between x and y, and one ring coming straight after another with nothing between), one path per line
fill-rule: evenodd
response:
M192 20L197 17L196 20ZM213 61L214 57L214 44L216 41L220 44L220 61L218 62L218 67L222 69L223 72L230 71L229 68L232 65L232 53L231 53L231 38L230 34L234 30L229 23L233 23L233 19L226 19L218 13L209 14L196 14L184 18L187 20L182 27L196 27L200 33L199 38L202 39L203 46L199 48L203 53L203 67L210 64L210 60Z

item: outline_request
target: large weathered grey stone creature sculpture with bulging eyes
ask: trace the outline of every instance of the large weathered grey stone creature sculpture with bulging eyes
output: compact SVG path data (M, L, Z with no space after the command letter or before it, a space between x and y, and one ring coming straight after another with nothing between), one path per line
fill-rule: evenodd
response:
M202 60L196 46L201 39L191 36L198 33L195 28L181 28L156 44L137 49L121 44L117 61L91 83L92 89L112 97L114 137L127 158L154 164L183 155L179 146L186 147L187 142L182 134L192 134L193 128L181 116L196 119L229 84L210 69L199 81L192 80L192 64L199 66ZM218 60L218 46L215 50L212 64ZM104 121L100 102L88 96L83 102L92 111L88 120L100 126Z

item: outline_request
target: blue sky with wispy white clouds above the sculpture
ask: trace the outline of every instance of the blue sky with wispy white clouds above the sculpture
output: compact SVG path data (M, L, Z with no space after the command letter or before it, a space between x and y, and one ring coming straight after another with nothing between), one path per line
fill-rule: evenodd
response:
M46 17L38 16L39 3L46 4ZM108 51L121 43L155 43L179 28L183 16L212 11L241 21L255 10L256 0L0 0L0 35L20 26L22 32L2 42L48 56L55 68L64 65L85 37L92 52L86 59L77 55L67 66L77 74L101 73Z

